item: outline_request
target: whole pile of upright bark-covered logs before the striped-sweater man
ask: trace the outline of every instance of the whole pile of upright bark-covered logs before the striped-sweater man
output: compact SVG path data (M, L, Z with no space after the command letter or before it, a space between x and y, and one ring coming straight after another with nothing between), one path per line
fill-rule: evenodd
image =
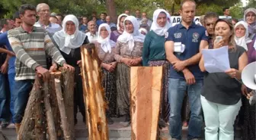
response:
M50 73L50 79L44 82L37 76L18 140L75 140L73 93L73 72L62 70Z

